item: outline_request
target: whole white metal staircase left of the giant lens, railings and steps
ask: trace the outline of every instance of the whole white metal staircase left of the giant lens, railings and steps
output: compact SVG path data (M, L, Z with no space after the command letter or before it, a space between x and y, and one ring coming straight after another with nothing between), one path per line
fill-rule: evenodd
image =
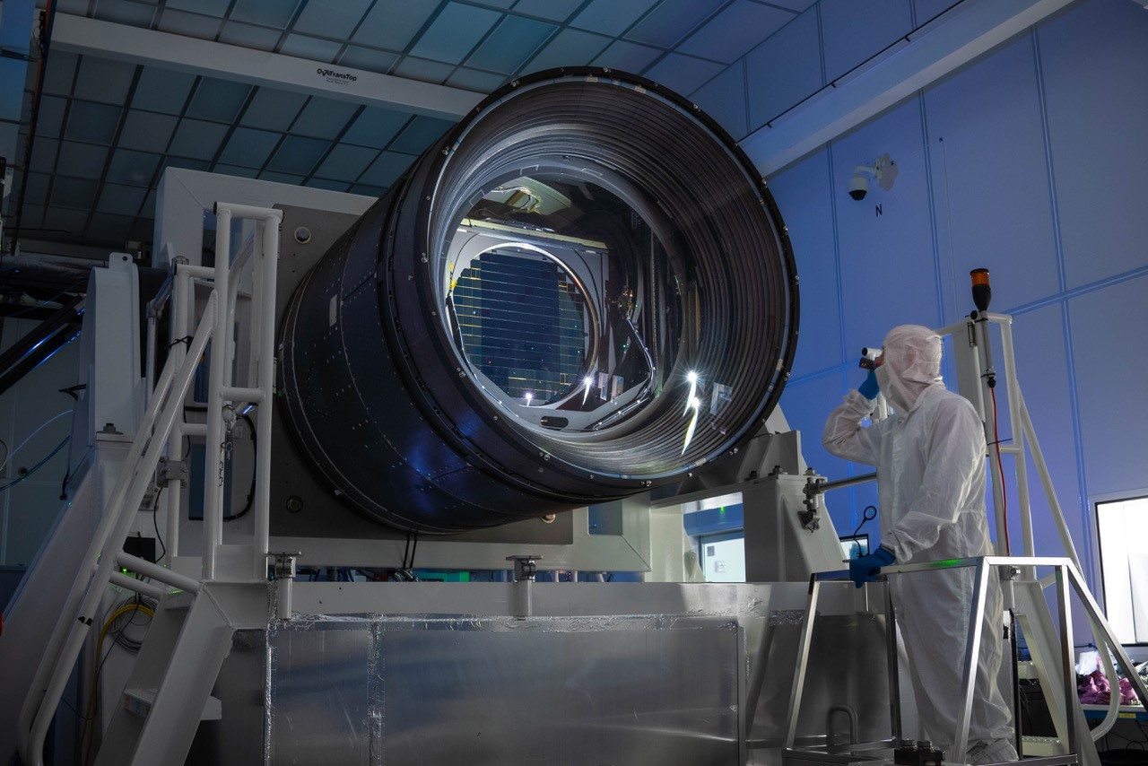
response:
M57 529L53 546L67 548L54 556L72 557L75 580L68 595L57 603L59 619L51 635L36 644L42 657L28 686L17 721L20 753L26 766L42 766L44 742L61 695L72 674L91 629L101 618L100 605L109 585L116 585L158 601L157 611L138 661L127 681L124 704L118 706L111 726L104 735L96 756L96 764L181 764L195 736L200 720L210 714L211 688L219 667L231 649L238 626L258 619L266 625L269 597L267 566L267 496L270 492L270 450L261 454L256 467L255 532L241 560L218 556L223 548L222 492L223 487L207 480L204 493L204 544L202 575L192 578L179 574L171 565L178 543L169 539L168 557L162 566L134 556L121 548L131 529L145 495L153 486L161 456L180 449L180 430L184 427L185 399L192 386L196 367L211 343L211 382L209 387L207 436L209 443L225 439L225 410L249 403L265 409L258 418L258 439L270 443L270 411L273 390L274 358L274 295L277 262L279 257L278 210L235 204L216 204L217 263L214 268L173 264L171 283L177 342L160 373L150 403L142 418L134 441L127 449L123 469L108 497L102 516L91 534L86 550L77 548L79 529ZM251 247L231 257L232 218L257 222L258 229ZM256 245L262 242L262 245ZM255 382L247 388L224 385L232 379L234 365L234 323L239 273L254 257L255 291L253 295L253 359L250 370ZM212 292L194 334L186 338L180 324L194 314L191 280L208 281ZM186 342L186 347L185 343ZM172 434L177 439L172 439ZM217 455L212 455L217 452ZM224 450L209 450L208 477L223 475ZM264 458L266 456L266 458ZM178 455L174 459L178 459ZM214 461L214 462L212 462ZM217 470L218 469L218 470ZM172 479L178 481L178 479ZM177 492L169 493L169 519L178 513ZM176 510L170 508L174 504ZM78 518L78 514L77 514ZM70 523L72 526L78 524ZM172 532L176 526L169 527ZM68 534L59 534L67 532ZM228 547L231 548L231 547ZM122 570L134 572L127 577ZM45 570L47 572L47 570ZM45 572L33 573L38 586L25 586L25 604L40 595L61 593L63 582ZM152 582L144 581L148 578ZM49 580L52 580L49 582ZM240 585L242 583L242 585ZM23 689L8 689L20 695Z

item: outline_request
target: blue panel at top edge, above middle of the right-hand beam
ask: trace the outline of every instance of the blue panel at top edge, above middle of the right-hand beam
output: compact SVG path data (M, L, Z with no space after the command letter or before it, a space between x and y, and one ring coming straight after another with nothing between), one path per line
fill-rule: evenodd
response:
M909 0L821 0L825 79L832 82L913 31Z

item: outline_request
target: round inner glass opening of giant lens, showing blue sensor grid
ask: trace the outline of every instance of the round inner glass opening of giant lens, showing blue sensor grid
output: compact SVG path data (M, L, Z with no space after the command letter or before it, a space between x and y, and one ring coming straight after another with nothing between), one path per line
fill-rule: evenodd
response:
M673 369L682 310L666 250L590 180L491 184L461 216L443 271L456 351L519 425L608 428Z

